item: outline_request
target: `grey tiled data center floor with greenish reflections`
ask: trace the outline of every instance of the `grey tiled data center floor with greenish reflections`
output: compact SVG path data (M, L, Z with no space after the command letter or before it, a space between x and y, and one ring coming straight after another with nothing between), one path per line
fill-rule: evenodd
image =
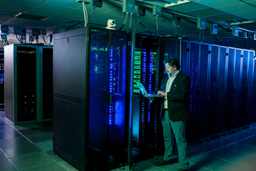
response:
M52 122L13 125L0 109L0 171L74 171L67 161L53 154ZM135 171L178 170L178 155L172 165L156 167L156 159L139 161ZM158 159L162 159L159 156ZM256 123L251 129L216 137L189 148L189 170L256 170ZM118 171L120 169L116 169ZM129 170L128 166L124 170ZM114 171L114 170L112 170Z

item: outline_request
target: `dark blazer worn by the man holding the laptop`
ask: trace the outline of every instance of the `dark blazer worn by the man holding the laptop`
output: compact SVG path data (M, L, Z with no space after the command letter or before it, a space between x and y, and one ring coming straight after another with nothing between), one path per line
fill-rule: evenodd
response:
M159 91L165 91L168 79L168 75L163 77L162 86L159 88ZM171 121L184 121L188 119L185 102L187 101L187 95L189 94L189 87L189 76L179 72L173 80L170 91L167 92L167 108ZM165 99L162 98L160 118L165 115L165 110L163 110L164 100Z

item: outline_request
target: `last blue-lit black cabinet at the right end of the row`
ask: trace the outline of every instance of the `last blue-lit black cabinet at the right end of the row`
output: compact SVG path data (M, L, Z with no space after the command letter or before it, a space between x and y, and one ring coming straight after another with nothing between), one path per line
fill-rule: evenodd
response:
M251 50L242 51L241 71L241 98L239 112L239 127L250 124L250 113L252 107L252 83L253 83L253 61L254 52Z

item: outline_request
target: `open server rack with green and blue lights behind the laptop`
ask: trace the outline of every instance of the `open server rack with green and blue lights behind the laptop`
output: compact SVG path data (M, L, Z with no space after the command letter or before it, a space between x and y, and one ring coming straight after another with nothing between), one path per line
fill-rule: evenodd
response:
M153 103L140 93L136 83L143 83L148 92L157 91L159 39L136 37L135 89L133 105L133 159L153 157L159 146L158 102Z

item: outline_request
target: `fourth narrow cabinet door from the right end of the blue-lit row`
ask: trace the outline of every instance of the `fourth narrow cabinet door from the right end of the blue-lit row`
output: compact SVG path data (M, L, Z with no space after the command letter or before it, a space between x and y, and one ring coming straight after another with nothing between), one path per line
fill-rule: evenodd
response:
M228 47L227 57L227 87L226 87L226 100L225 100L225 131L236 129L237 117L233 115L233 94L235 94L236 87L233 84L235 67L235 54L236 49Z

